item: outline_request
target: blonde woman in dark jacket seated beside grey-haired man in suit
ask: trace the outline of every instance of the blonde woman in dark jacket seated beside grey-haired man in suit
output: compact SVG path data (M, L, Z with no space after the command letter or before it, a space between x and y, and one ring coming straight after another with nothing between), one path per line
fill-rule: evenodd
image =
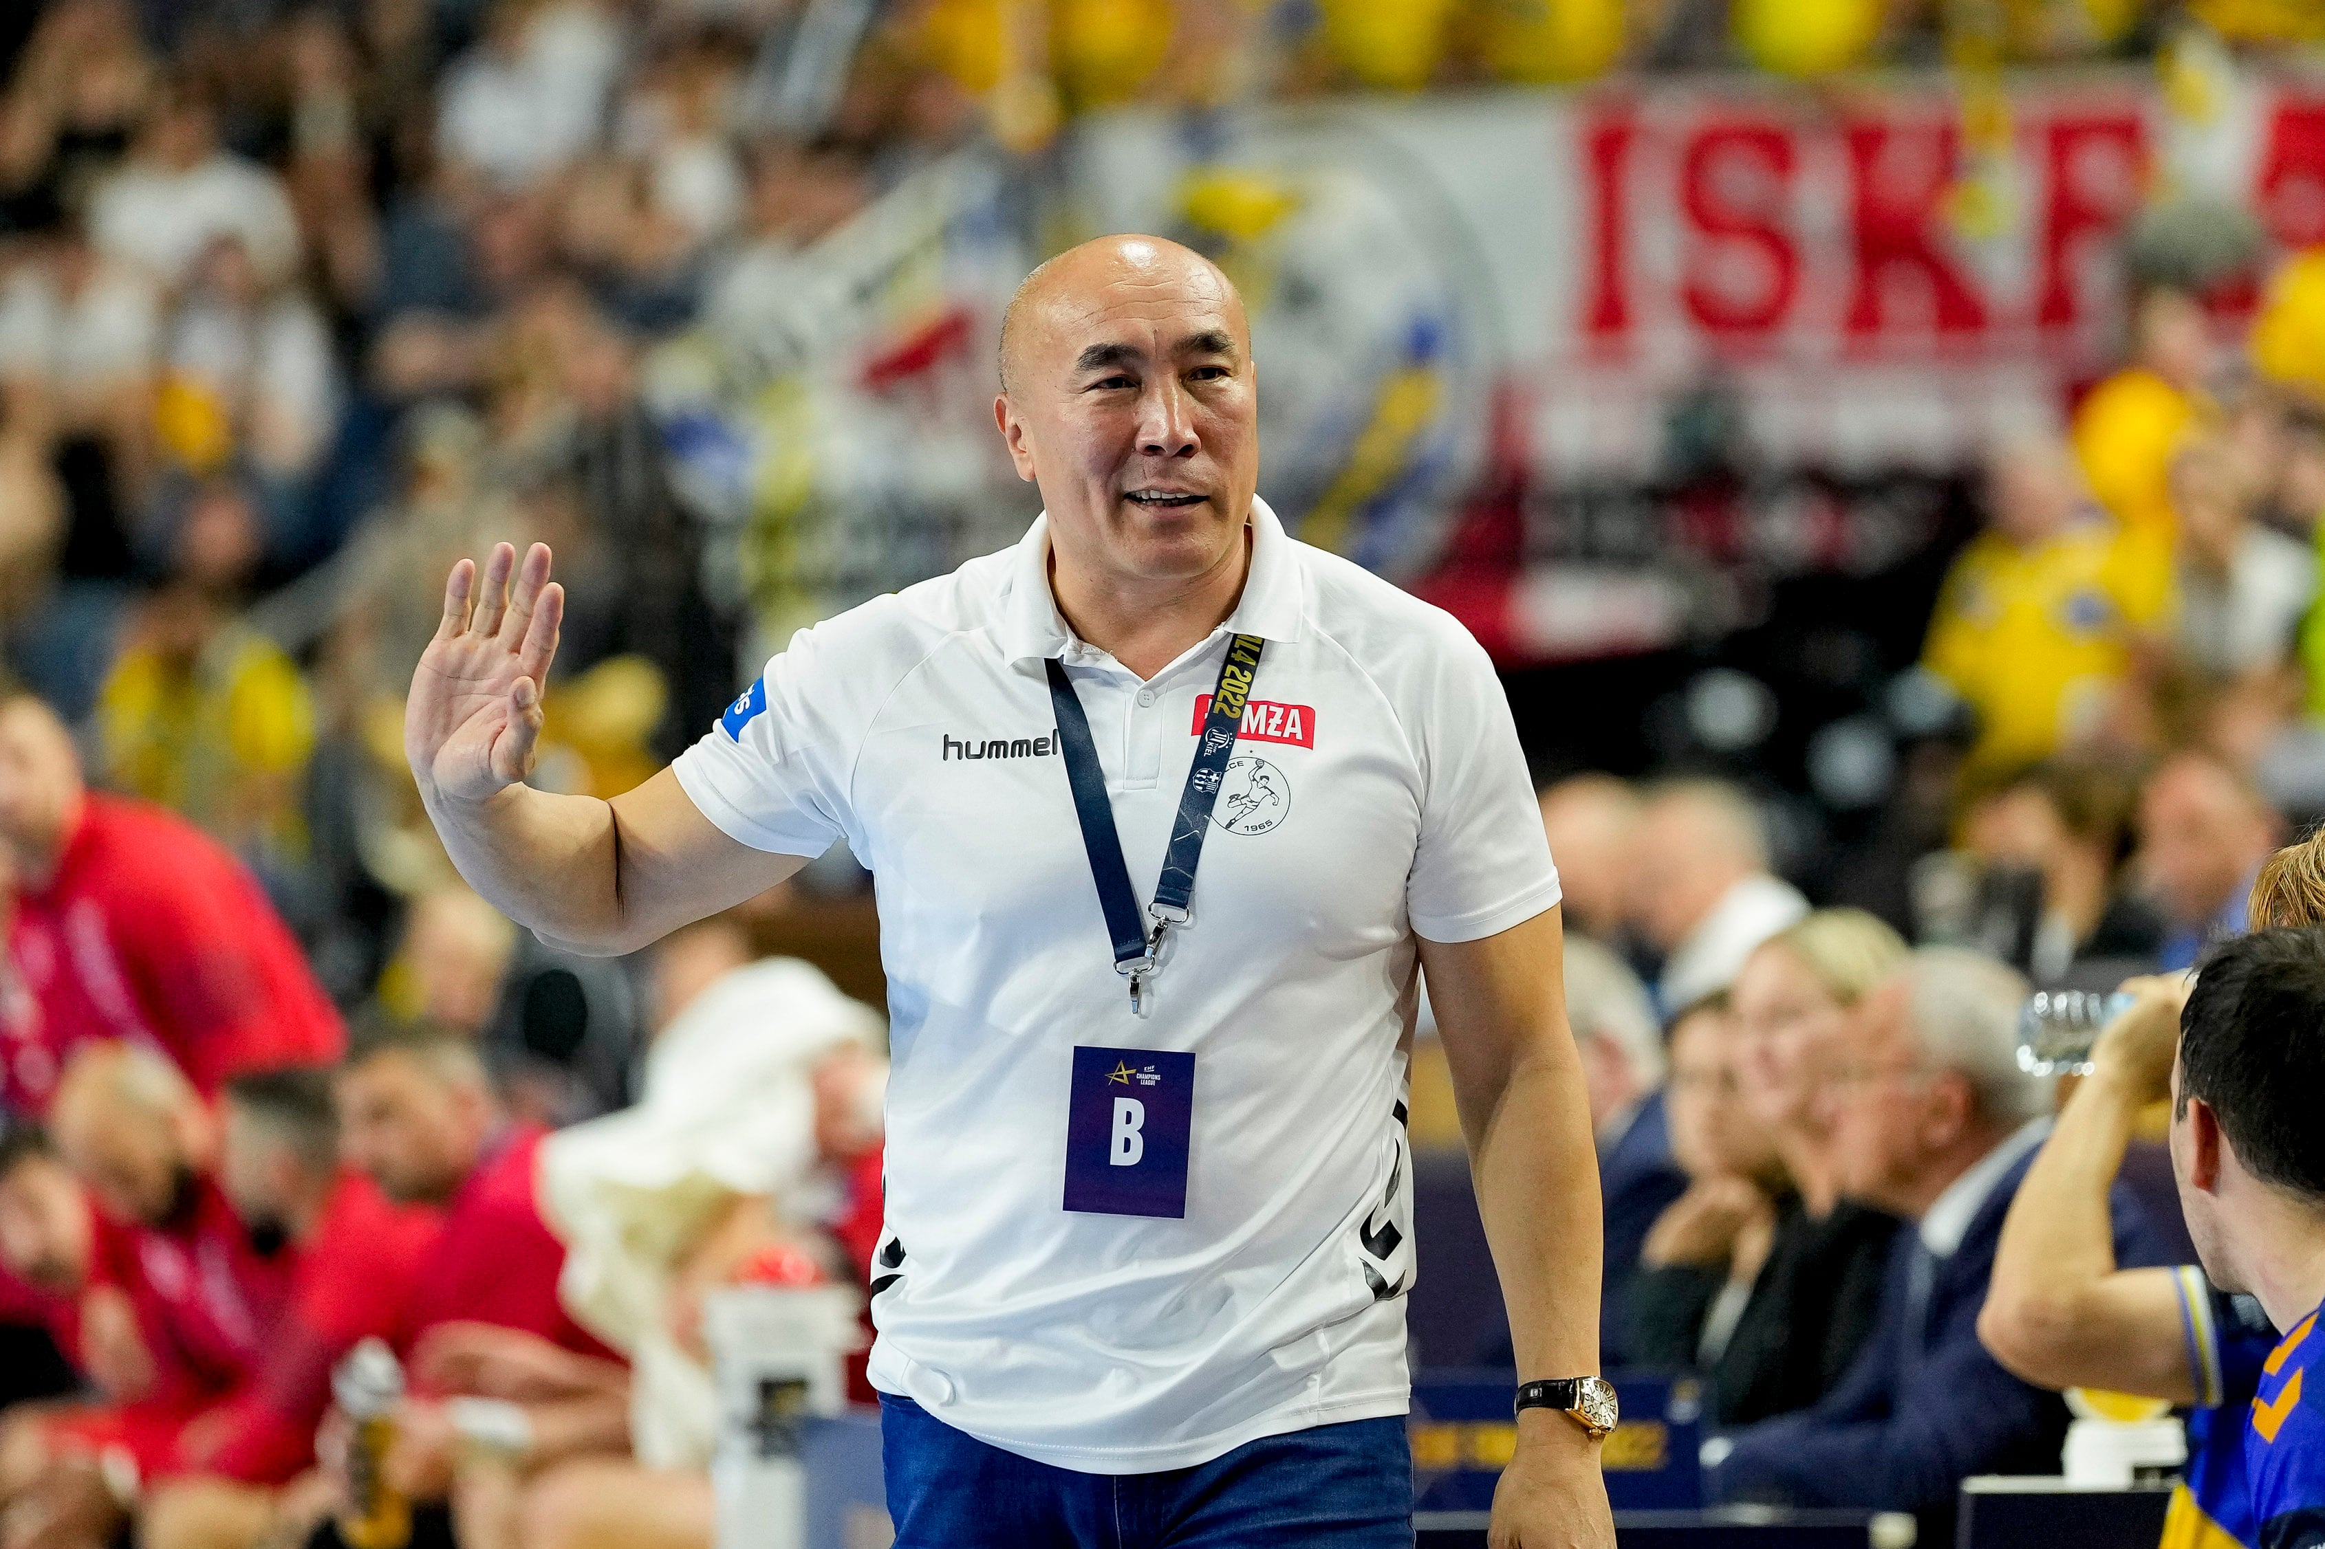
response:
M1825 1101L1851 1013L1904 959L1904 938L1876 917L1820 908L1765 941L1737 973L1721 1033L1725 1064L1737 1110L1765 1131L1786 1184L1769 1198L1769 1229L1753 1231L1748 1215L1730 1210L1725 1240L1688 1229L1683 1196L1672 1229L1658 1222L1648 1238L1648 1259L1660 1263L1634 1294L1641 1319L1669 1319L1683 1296L1700 1298L1709 1319L1723 1289L1732 1298L1751 1287L1734 1326L1704 1324L1723 1338L1700 1342L1686 1361L1707 1373L1721 1426L1816 1403L1874 1328L1897 1222L1839 1198ZM1679 1354L1669 1342L1665 1352Z

